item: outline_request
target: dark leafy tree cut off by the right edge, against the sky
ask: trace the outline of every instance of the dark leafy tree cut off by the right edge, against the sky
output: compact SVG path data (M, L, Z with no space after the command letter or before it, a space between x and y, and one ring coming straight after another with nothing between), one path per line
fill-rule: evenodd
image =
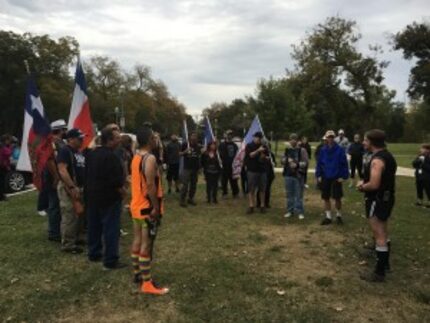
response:
M411 69L408 94L413 99L430 102L430 24L413 22L393 36L394 49L403 57L416 59Z

